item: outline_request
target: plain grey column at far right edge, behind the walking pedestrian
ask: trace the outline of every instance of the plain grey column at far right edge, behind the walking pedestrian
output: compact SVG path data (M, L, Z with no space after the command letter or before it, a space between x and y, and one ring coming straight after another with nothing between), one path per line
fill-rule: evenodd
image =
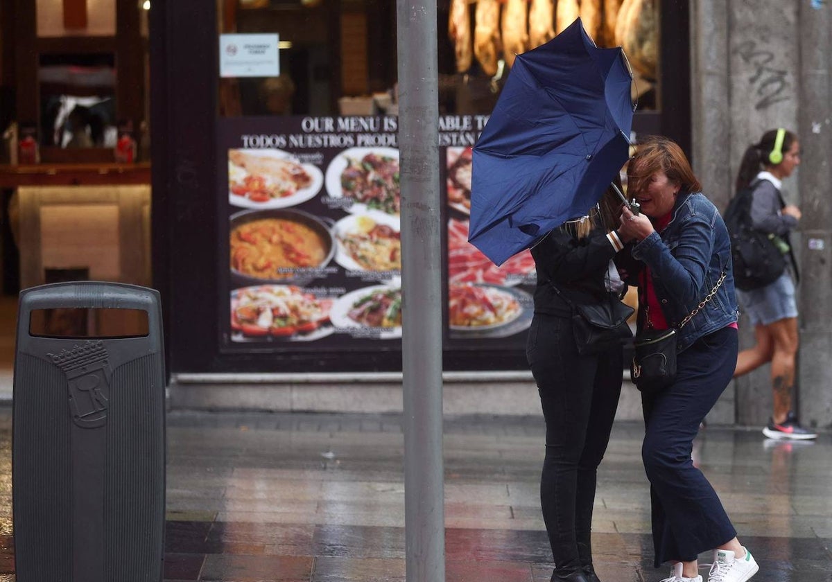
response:
M813 5L818 7L813 7ZM832 119L828 2L800 2L800 363L801 420L832 425Z

